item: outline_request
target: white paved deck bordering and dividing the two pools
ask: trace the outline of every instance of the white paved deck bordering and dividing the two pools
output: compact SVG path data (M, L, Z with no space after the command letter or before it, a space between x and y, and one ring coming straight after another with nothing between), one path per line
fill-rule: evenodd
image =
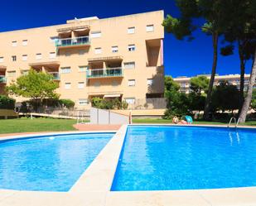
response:
M127 125L123 125L118 130L70 191L37 192L0 189L0 206L256 206L256 187L133 192L110 191L127 127ZM89 132L51 132L36 134L36 136L57 133ZM34 137L35 134L2 137L1 140L29 136Z

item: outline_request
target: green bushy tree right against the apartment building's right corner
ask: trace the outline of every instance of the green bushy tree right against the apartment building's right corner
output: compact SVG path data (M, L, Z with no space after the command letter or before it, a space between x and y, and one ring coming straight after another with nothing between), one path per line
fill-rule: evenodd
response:
M167 98L167 110L164 118L186 115L191 113L189 110L189 99L186 93L179 91L180 85L171 76L165 77L165 98Z

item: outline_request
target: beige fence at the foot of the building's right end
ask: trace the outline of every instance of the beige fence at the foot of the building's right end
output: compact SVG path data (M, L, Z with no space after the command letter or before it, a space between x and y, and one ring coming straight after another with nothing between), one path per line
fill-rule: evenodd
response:
M167 108L166 98L137 98L128 103L128 109L161 109Z

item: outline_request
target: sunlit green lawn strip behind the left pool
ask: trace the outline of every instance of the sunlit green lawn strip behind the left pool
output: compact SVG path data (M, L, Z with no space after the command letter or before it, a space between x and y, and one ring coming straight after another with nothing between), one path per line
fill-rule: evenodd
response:
M1 119L0 134L16 132L53 132L73 131L76 123L73 119L51 119L51 118L17 118Z

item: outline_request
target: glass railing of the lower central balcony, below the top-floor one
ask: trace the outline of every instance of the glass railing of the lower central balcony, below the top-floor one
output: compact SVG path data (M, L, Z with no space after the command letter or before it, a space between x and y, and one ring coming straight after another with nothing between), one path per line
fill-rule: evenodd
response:
M123 68L88 69L87 78L123 77Z

